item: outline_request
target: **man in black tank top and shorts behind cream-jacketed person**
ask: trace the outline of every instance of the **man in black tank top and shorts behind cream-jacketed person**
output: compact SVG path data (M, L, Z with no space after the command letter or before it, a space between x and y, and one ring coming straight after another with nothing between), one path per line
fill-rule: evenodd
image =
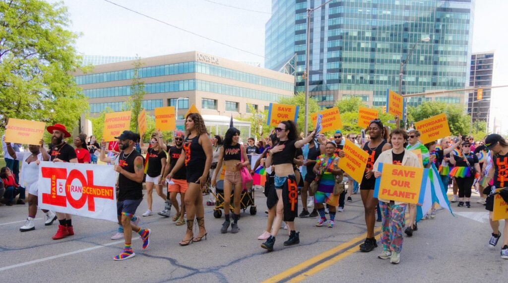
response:
M365 207L365 224L367 226L367 238L365 242L360 245L360 251L370 252L377 247L376 239L374 238L374 224L376 222L375 210L378 204L377 198L374 198L374 185L375 178L372 167L379 155L385 150L392 148L385 140L388 133L385 132L385 127L379 119L370 121L367 131L370 135L370 140L363 145L362 149L369 154L367 160L367 167L365 174L360 184L360 194L362 196L363 206Z

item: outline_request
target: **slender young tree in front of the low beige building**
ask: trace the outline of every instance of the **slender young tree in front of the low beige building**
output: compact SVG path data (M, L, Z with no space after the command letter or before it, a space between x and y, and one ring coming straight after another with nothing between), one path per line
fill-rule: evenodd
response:
M134 75L131 83L131 96L125 101L124 110L132 111L131 114L131 129L138 132L138 117L142 110L143 97L145 96L145 83L139 79L139 67L142 65L141 58L137 57L137 60L132 64L134 66ZM148 131L147 131L148 132Z

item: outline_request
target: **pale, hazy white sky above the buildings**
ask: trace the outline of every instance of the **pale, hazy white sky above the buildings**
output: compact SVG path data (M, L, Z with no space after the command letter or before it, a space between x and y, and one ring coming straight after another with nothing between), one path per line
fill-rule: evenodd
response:
M80 34L76 42L80 53L151 57L197 50L232 60L264 62L265 24L270 18L271 0L108 1L237 49L135 14L105 0L64 0L72 21L69 28ZM507 0L475 1L472 52L495 51L493 85L508 85L505 11L508 11ZM504 105L508 105L507 92L508 88L494 89L491 99L491 113L504 124L502 132L508 132L508 112L504 111ZM493 117L491 125L492 122Z

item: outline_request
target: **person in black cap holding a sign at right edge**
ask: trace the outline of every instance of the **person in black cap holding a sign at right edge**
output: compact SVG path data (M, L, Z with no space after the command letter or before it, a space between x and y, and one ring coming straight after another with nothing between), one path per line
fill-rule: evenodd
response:
M485 138L485 147L489 152L493 153L492 164L487 178L493 179L494 185L491 187L491 192L487 197L487 205L485 209L489 210L490 226L492 227L492 237L490 238L490 247L496 246L501 232L499 232L499 220L493 220L494 211L494 192L497 188L508 186L508 143L499 134L489 134ZM490 181L488 180L488 181ZM508 218L504 219L504 240L501 247L501 258L508 259Z

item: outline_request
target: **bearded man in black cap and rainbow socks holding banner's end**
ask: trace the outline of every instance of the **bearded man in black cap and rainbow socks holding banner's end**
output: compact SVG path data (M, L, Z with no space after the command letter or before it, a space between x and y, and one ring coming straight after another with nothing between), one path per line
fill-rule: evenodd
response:
M118 224L123 227L123 237L125 246L122 252L113 257L114 260L125 260L134 257L132 242L132 231L138 233L143 240L143 250L150 243L150 229L141 229L134 225L131 220L139 204L143 200L143 156L134 149L136 134L132 131L123 131L118 139L120 154L115 160L106 157L106 143L103 141L101 148L101 161L115 163L114 170L118 174L118 198L116 202L116 211L118 215Z

